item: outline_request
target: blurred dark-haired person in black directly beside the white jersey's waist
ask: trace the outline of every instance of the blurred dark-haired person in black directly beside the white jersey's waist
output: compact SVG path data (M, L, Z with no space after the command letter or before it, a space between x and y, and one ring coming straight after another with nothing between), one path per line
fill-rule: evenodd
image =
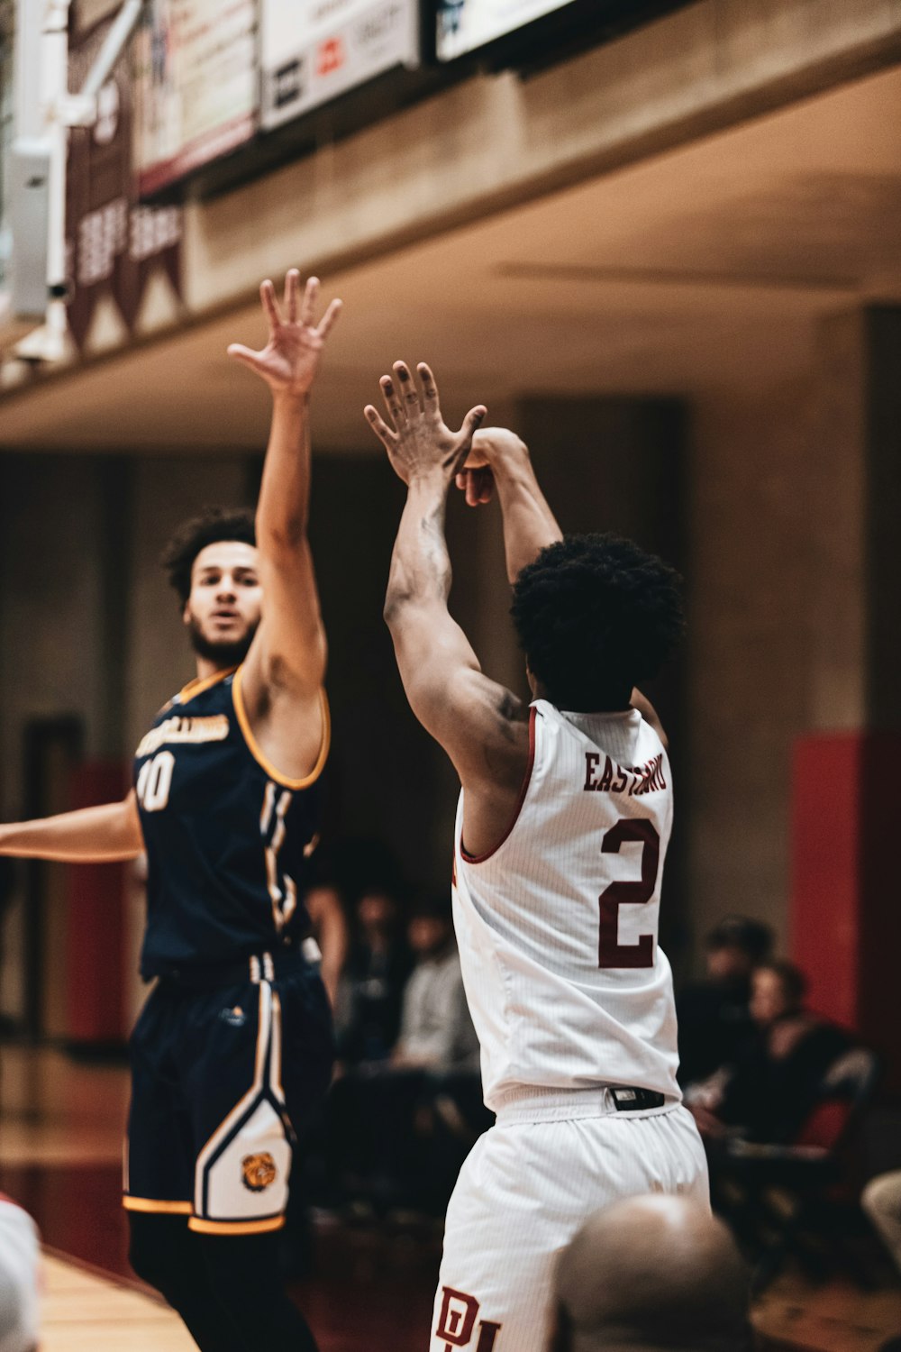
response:
M727 1065L754 1029L751 973L773 949L773 930L747 915L727 915L705 940L706 977L678 996L679 1084L685 1088Z

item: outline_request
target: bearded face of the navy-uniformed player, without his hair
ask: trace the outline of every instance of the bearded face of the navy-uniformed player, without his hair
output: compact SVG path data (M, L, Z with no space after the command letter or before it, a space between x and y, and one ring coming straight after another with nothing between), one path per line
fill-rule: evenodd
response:
M240 541L219 541L197 554L184 621L199 657L220 669L236 667L259 625L262 589L257 550Z

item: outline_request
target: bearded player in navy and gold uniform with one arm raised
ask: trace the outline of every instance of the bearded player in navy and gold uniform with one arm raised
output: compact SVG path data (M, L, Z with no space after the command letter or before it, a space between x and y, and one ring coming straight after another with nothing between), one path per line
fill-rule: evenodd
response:
M281 1288L294 1128L326 1091L331 1013L303 909L328 753L326 634L307 539L309 392L340 308L261 288L273 392L254 522L212 512L169 550L197 679L142 740L123 803L0 827L0 852L147 853L124 1206L131 1261L204 1352L312 1352Z

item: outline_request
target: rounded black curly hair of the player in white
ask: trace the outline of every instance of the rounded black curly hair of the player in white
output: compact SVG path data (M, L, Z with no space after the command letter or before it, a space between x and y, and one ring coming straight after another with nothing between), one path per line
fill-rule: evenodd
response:
M511 614L530 671L558 708L625 708L685 630L682 579L617 535L567 535L513 587Z

